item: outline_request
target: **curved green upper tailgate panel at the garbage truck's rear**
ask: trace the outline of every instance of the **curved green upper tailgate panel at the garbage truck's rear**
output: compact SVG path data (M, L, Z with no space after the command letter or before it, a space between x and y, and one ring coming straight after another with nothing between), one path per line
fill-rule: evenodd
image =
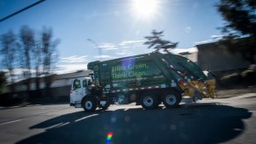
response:
M206 79L201 69L193 61L176 54L165 54L164 57L168 60L171 68L184 74L184 76L190 76L190 78L193 76L195 79Z

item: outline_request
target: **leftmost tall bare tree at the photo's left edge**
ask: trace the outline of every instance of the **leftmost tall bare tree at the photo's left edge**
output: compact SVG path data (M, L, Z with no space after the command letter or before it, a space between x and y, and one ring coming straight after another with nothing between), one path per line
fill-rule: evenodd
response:
M16 68L17 58L17 42L16 35L13 32L6 32L1 37L1 54L3 55L4 68L8 69L11 83L15 81L14 69ZM14 85L11 84L11 91L15 90Z

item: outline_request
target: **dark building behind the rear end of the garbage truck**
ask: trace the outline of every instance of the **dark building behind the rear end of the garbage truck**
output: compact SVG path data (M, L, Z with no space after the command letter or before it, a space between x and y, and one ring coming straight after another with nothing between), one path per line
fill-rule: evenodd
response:
M245 61L239 53L230 53L229 45L212 42L196 46L198 48L197 64L201 69L210 69L219 75L229 74L248 68L249 61Z

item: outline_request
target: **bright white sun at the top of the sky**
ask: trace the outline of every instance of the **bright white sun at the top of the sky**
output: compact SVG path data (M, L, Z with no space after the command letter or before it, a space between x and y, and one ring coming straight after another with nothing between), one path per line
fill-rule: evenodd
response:
M157 11L157 0L134 0L134 13L140 18L149 18Z

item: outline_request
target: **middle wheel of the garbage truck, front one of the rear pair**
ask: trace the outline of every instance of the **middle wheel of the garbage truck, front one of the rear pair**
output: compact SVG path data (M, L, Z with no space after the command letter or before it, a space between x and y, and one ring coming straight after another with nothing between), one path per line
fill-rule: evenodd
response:
M157 97L155 97L153 94L147 93L144 94L143 97L141 97L141 104L143 106L143 109L145 110L151 110L157 107Z

